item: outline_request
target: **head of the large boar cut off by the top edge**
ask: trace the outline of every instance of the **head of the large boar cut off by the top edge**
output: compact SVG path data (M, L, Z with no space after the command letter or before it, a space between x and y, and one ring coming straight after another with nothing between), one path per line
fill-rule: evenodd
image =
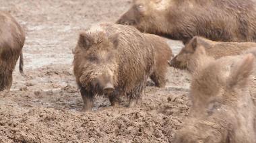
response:
M169 5L170 0L133 0L131 8L116 23L134 26L141 32L163 33Z

